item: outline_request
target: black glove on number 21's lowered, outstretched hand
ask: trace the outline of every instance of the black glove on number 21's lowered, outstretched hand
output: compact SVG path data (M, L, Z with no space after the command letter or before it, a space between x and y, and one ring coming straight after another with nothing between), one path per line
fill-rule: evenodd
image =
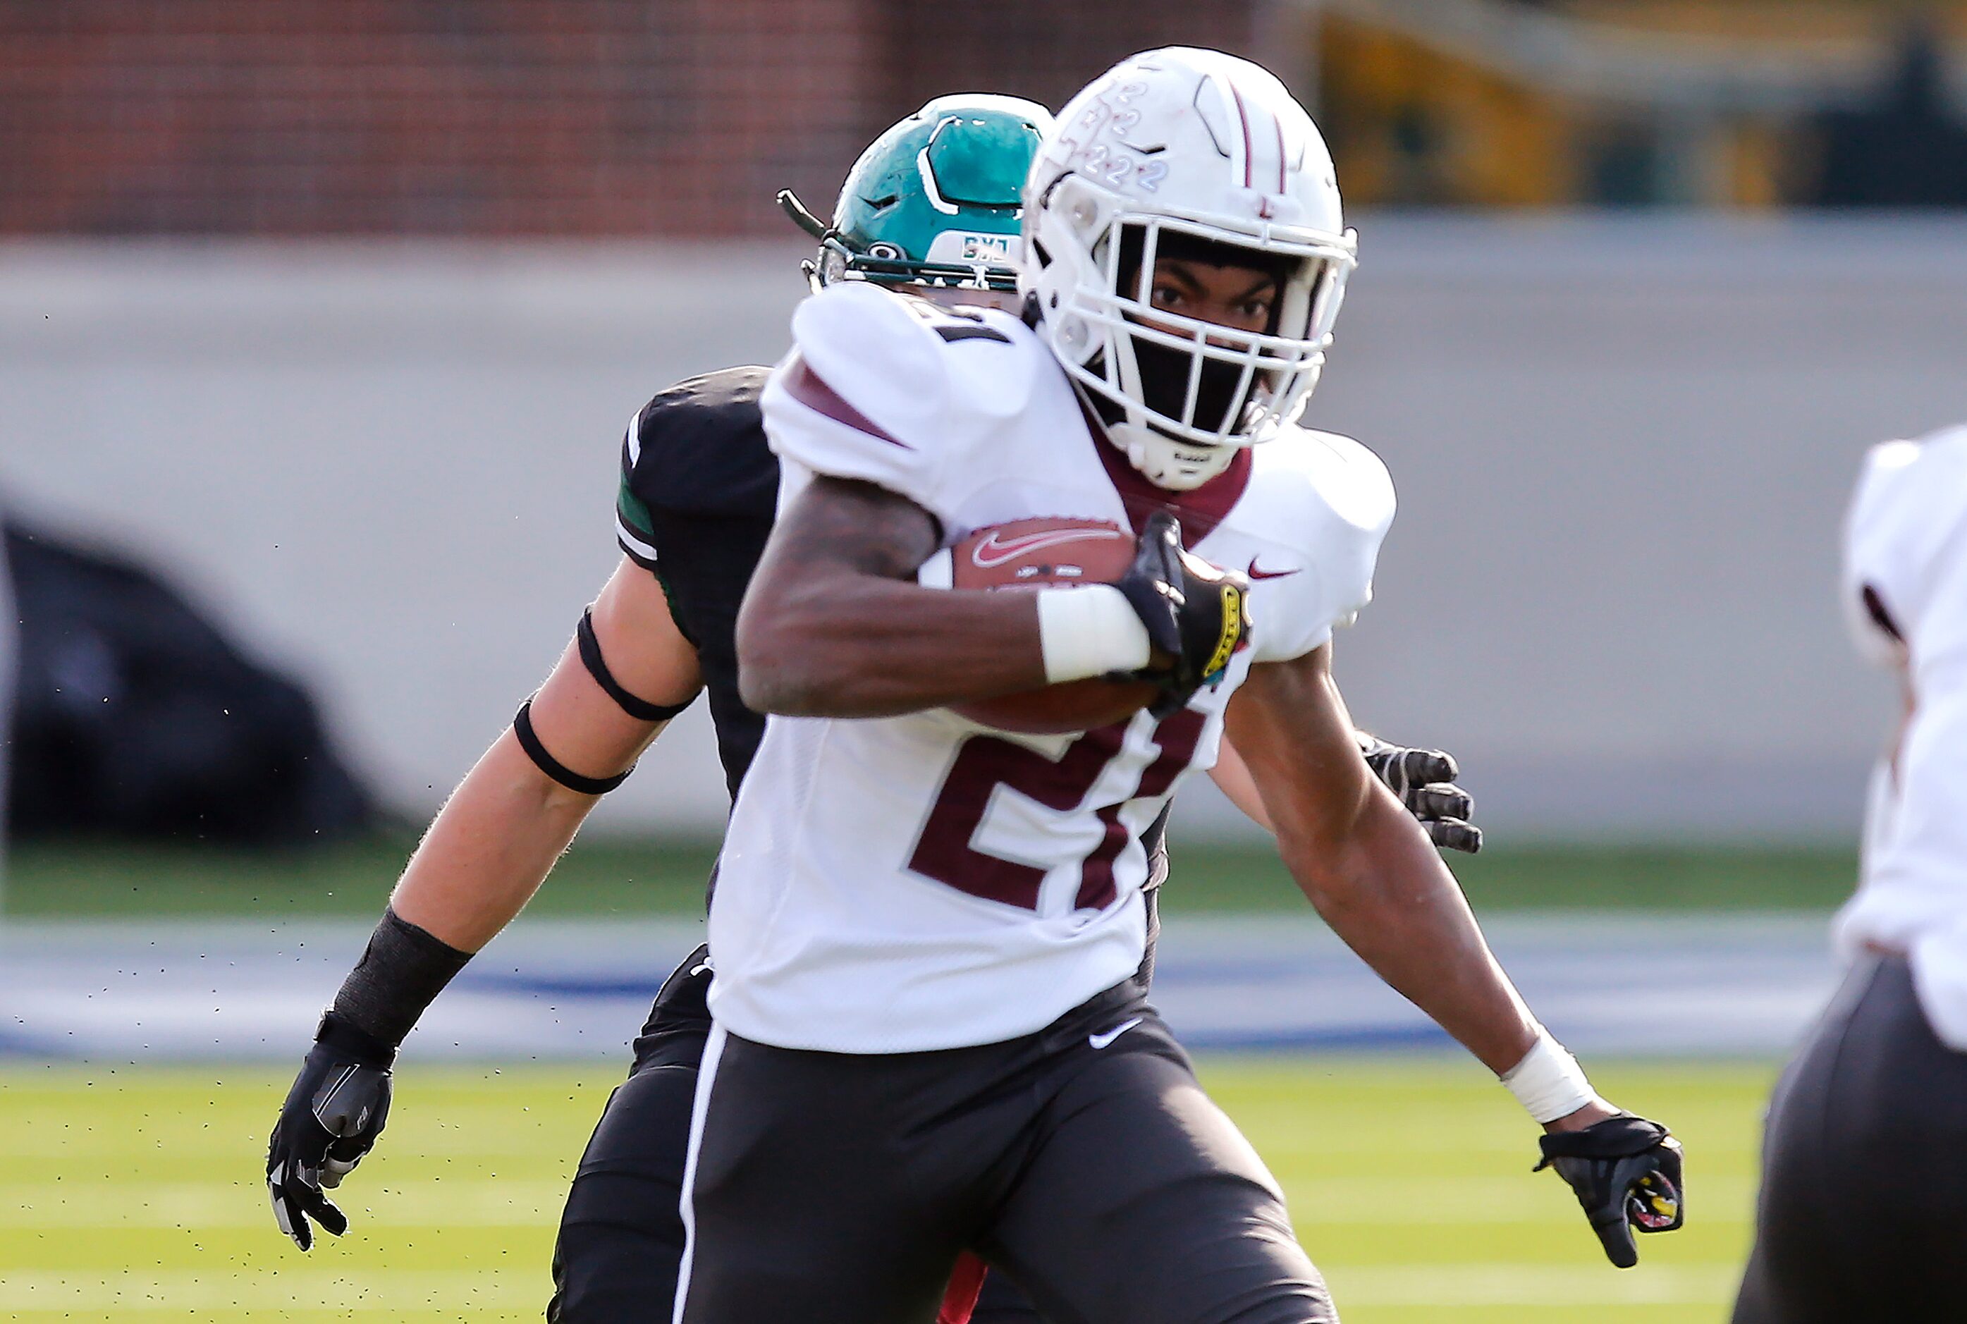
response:
M1558 1169L1605 1243L1605 1259L1621 1269L1639 1263L1633 1230L1672 1232L1682 1224L1680 1141L1658 1121L1619 1113L1583 1131L1554 1131L1538 1145L1544 1159L1530 1171Z

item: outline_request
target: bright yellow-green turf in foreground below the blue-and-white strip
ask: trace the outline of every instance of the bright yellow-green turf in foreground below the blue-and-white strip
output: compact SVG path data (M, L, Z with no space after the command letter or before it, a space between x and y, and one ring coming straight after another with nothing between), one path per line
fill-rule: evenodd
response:
M1473 1062L1222 1058L1204 1076L1290 1194L1349 1324L1725 1318L1747 1243L1764 1066L1611 1066L1690 1157L1690 1224L1611 1269L1532 1127ZM0 1072L0 1316L205 1324L539 1320L561 1194L606 1072L419 1068L350 1178L348 1237L271 1222L285 1072Z

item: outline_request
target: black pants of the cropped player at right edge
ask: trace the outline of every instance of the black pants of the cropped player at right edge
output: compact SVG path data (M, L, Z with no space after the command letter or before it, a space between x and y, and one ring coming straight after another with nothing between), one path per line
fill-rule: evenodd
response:
M1735 1324L1967 1320L1967 1054L1902 958L1845 978L1768 1108Z

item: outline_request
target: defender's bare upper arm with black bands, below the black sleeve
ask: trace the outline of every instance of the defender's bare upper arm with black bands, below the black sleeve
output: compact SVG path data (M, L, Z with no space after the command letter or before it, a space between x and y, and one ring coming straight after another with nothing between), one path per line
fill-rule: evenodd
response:
M686 704L702 689L696 649L677 630L663 586L622 559L590 608L602 671L629 704ZM612 777L635 761L665 720L629 712L580 653L576 637L533 696L533 730L547 752L584 777Z

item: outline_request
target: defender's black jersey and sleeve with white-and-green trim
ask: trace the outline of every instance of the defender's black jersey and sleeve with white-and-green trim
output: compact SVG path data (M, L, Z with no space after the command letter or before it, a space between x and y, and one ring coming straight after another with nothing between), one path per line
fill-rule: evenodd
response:
M657 576L696 647L734 797L765 736L765 718L738 698L736 632L779 502L757 407L769 372L726 368L659 391L622 439L616 498L622 551Z

